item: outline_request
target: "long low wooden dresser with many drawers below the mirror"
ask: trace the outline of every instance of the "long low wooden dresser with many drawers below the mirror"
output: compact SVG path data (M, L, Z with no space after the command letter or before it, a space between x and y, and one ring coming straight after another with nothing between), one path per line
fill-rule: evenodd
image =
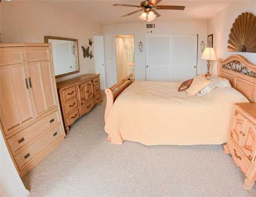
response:
M66 133L76 119L102 103L100 74L85 74L57 83L62 118Z

